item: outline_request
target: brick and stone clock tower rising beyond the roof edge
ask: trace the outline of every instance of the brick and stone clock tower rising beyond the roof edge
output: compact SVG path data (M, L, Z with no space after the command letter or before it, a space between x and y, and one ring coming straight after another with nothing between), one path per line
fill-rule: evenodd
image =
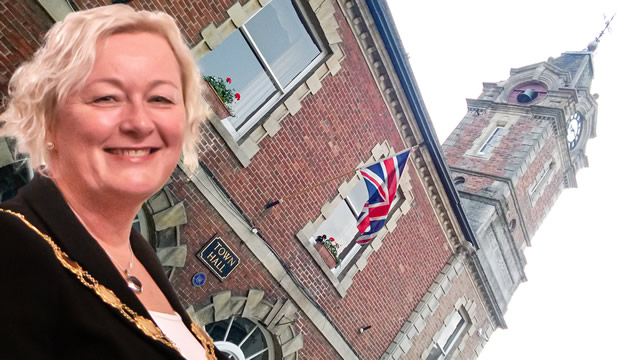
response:
M591 94L593 52L583 51L511 69L484 83L443 144L453 182L479 248L475 274L498 323L526 280L524 249L576 172L588 166L596 135L597 94Z

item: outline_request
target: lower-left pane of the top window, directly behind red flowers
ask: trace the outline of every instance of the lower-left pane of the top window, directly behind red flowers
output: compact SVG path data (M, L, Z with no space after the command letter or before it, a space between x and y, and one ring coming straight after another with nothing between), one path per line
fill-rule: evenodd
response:
M229 86L240 94L240 101L231 106L235 116L229 122L238 130L260 106L276 94L276 88L258 62L239 30L200 61L203 75L231 78Z

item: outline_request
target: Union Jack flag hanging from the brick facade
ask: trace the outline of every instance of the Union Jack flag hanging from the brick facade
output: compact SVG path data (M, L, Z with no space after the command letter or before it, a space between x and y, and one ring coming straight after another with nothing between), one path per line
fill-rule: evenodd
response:
M360 236L356 242L366 245L382 230L391 210L393 199L396 197L398 182L404 170L411 148L395 156L379 161L360 170L369 193L369 200L364 204L358 216L358 231Z

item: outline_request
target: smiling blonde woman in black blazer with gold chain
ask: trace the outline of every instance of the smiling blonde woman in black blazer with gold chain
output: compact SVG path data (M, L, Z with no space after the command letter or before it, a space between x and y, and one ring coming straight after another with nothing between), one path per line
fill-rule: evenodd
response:
M0 136L40 174L0 204L2 359L219 359L132 222L204 118L166 14L68 15L10 83Z

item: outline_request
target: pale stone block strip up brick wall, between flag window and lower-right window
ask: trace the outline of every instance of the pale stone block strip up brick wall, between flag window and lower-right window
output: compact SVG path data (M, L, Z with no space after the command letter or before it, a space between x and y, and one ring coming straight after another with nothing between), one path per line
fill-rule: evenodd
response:
M405 356L413 346L413 340L424 330L431 315L440 306L441 299L449 292L455 279L464 272L462 256L454 255L442 268L440 274L424 294L395 339L382 355L381 359L399 359Z

